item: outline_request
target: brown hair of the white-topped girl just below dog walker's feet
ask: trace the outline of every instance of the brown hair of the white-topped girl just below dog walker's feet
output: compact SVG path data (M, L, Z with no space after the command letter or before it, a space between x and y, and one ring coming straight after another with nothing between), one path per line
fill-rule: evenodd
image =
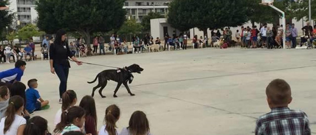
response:
M63 103L61 105L61 110L67 110L71 103L74 102L74 100L77 98L77 94L73 90L68 90L65 91L64 94L62 95Z

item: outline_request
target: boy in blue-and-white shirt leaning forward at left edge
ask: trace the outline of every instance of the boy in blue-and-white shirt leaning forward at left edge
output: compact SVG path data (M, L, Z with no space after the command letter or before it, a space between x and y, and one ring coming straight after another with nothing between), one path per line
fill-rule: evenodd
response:
M11 83L21 81L26 63L18 60L15 62L15 68L0 72L0 81L4 83Z

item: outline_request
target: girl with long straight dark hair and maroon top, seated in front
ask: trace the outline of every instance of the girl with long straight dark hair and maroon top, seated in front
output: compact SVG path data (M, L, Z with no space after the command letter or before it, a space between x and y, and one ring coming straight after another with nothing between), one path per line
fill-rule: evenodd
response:
M97 135L97 114L93 97L84 96L79 104L86 111L84 130L86 134Z

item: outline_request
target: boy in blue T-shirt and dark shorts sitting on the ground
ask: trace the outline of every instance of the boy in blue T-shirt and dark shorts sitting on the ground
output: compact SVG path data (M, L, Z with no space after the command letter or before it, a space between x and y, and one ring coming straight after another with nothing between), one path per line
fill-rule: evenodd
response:
M49 109L48 100L44 101L39 91L35 90L38 86L37 79L30 79L27 85L29 87L25 92L27 111L32 114L34 111Z

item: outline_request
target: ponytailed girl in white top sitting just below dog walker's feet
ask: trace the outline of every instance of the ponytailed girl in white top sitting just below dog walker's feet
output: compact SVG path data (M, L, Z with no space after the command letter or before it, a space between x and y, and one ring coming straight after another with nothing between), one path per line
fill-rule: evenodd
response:
M62 100L63 100L63 103L62 103L61 109L59 109L57 114L55 115L55 120L54 120L55 126L60 122L62 112L74 106L77 103L76 92L73 90L68 90L64 92L62 96Z

